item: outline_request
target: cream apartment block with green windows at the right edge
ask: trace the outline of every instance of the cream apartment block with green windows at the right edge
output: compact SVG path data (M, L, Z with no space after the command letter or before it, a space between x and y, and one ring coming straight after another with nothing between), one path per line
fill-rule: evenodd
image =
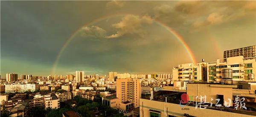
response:
M230 78L224 78L225 70L230 69ZM227 73L225 73L227 74ZM256 81L256 57L244 58L243 56L228 57L207 63L207 80L220 82L230 79L233 81Z

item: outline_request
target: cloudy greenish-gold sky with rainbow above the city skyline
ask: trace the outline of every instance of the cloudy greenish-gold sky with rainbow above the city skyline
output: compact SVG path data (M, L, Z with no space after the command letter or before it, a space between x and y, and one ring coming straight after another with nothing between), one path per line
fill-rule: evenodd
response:
M1 76L171 73L256 45L256 1L0 1Z

